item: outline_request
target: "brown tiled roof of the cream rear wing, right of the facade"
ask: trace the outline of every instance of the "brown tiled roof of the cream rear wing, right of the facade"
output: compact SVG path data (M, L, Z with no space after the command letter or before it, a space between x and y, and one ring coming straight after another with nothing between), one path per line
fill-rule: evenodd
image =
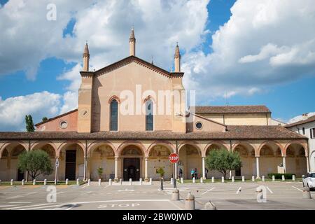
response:
M195 113L271 113L267 106L195 106Z

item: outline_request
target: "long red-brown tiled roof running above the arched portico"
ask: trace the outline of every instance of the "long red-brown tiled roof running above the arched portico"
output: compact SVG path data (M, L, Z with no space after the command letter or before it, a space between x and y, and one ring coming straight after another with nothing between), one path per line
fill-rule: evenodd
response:
M138 139L138 140L211 140L211 139L307 139L281 126L228 126L225 132L0 132L0 140L29 139Z

